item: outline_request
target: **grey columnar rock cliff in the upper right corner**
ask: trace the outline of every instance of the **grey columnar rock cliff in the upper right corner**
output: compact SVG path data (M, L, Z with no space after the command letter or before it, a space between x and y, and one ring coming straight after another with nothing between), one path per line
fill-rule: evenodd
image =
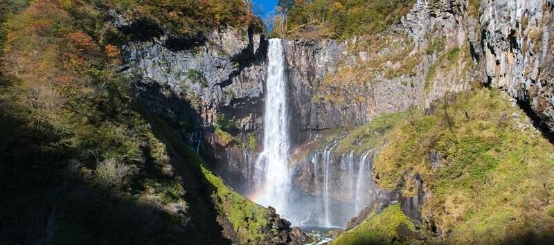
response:
M508 91L554 131L553 2L483 1L482 63L490 87Z

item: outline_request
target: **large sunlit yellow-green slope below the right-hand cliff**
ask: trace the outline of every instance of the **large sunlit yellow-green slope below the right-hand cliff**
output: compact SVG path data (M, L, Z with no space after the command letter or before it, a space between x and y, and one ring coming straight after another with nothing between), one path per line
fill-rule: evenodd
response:
M402 178L422 175L426 192L423 218L434 222L450 242L499 243L552 239L554 229L554 146L537 131L521 131L517 112L499 91L461 93L447 109L409 118L385 136L374 172L379 186L393 190ZM465 112L469 118L466 118ZM429 152L443 156L431 169ZM413 195L406 183L402 190Z

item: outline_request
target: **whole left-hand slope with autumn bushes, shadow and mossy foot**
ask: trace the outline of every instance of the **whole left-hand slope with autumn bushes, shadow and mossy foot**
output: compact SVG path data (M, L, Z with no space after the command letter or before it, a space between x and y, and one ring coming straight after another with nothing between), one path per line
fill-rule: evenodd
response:
M49 230L57 244L218 244L229 242L217 222L224 219L240 242L258 239L267 210L132 104L129 78L107 52L120 33L102 21L101 12L75 1L36 1L9 17L0 239L42 243ZM109 198L93 174L105 158L134 170Z

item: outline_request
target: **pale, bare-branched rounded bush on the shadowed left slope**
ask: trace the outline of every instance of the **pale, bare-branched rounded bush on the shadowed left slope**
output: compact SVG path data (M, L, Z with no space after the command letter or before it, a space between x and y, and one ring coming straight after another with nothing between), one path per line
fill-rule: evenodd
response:
M96 166L96 181L106 190L106 198L109 197L111 188L123 181L125 176L131 174L131 167L119 163L114 158L107 158Z

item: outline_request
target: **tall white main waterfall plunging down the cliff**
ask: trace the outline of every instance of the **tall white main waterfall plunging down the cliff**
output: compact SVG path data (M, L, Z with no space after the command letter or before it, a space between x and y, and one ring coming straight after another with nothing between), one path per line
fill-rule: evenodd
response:
M283 44L269 39L269 66L264 115L264 150L256 161L262 193L256 201L273 206L281 215L289 214L291 176L288 170L289 125Z

